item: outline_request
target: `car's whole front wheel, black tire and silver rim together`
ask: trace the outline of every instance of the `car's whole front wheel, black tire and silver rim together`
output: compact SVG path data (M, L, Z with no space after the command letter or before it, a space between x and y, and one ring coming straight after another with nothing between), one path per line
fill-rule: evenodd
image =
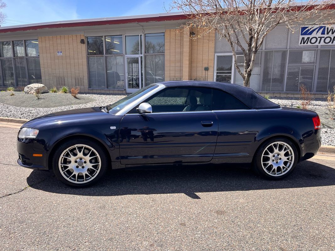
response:
M58 147L53 157L56 177L66 185L84 187L106 172L108 160L100 145L89 140L70 140Z

